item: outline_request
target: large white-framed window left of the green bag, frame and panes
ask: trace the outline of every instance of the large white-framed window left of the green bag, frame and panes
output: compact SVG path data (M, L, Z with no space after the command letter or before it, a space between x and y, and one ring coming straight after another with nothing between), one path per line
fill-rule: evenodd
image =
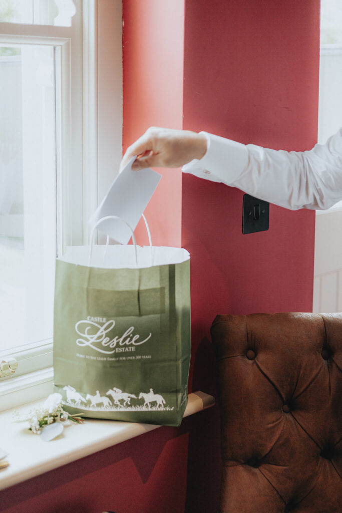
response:
M5 409L49 393L55 258L87 243L120 161L121 2L0 0L0 87Z

